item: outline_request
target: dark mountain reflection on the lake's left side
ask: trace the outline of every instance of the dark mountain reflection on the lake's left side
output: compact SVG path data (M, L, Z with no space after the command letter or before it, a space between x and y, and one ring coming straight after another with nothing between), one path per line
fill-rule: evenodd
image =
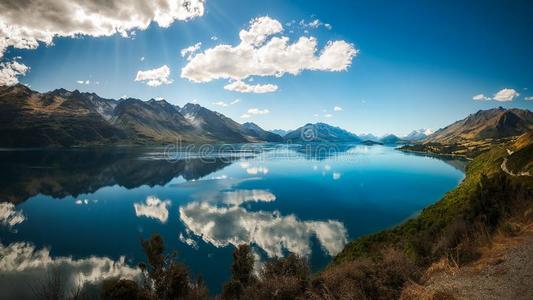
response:
M142 158L139 151L0 151L0 199L20 203L43 194L77 197L112 185L128 189L164 185L175 177L196 180L231 164L230 158L208 162Z

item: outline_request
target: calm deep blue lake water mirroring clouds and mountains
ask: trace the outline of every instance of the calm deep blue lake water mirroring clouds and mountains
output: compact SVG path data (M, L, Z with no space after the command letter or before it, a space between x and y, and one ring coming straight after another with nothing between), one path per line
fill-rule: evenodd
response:
M133 276L152 233L212 291L242 243L259 262L293 252L318 270L463 178L462 162L391 147L249 147L0 151L0 201L15 204L0 203L4 285L51 266L90 282Z

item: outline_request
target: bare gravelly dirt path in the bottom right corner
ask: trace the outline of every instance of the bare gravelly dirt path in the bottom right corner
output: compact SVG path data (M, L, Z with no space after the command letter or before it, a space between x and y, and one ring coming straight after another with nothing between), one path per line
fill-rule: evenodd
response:
M474 265L433 274L424 289L458 299L533 299L533 233L495 241Z

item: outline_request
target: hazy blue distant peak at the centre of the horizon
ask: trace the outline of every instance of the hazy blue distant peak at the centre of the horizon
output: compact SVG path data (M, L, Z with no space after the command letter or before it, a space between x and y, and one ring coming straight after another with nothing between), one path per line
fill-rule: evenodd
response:
M325 123L306 124L296 130L287 133L284 136L285 140L293 143L301 142L360 142L361 139L357 135L341 129L333 127Z

